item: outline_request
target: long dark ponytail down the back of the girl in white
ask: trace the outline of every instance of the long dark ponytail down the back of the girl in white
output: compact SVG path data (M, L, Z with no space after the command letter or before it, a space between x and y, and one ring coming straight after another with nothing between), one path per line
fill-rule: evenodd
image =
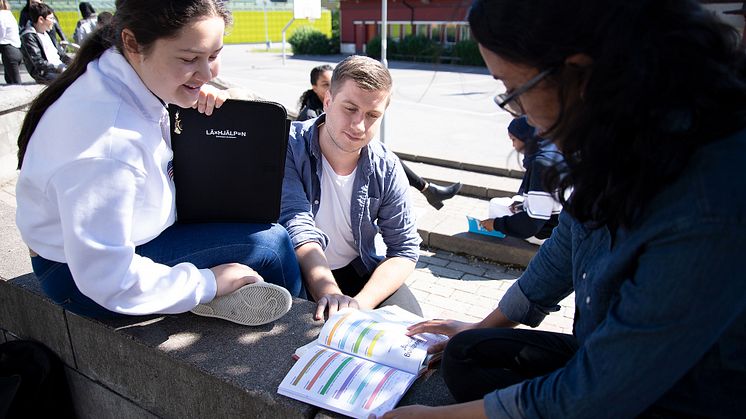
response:
M59 77L54 79L31 103L31 107L23 119L21 132L18 135L18 169L23 165L23 156L26 154L29 140L34 130L36 130L36 126L39 125L44 112L65 93L65 90L78 77L85 73L88 63L99 58L104 51L114 45L113 40L115 36L114 25L109 24L96 28L86 38L83 46L75 55L75 59L70 63L70 66Z

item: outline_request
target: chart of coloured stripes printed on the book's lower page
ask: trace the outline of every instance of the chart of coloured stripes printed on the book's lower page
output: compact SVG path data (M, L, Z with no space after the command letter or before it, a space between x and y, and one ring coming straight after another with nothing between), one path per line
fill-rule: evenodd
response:
M292 386L344 408L375 409L401 394L413 379L395 368L329 349L317 350L308 362L296 367L299 371Z

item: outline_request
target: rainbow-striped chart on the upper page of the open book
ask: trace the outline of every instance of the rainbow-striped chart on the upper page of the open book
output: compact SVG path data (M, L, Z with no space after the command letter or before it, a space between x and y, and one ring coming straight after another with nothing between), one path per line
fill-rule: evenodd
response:
M404 335L404 326L401 329L392 329L391 324L384 324L371 319L357 319L352 323L349 321L349 313L337 320L325 340L327 346L339 348L352 354L371 357L375 353L377 345L385 341L388 336L396 336L400 339ZM340 328L341 325L344 328Z

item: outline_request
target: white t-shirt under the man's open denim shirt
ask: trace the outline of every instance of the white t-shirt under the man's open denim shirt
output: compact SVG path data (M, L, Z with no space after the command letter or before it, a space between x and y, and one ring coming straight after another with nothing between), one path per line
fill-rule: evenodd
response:
M316 227L329 237L324 250L329 267L339 269L358 257L350 221L352 184L357 168L349 175L338 175L324 156L321 156L321 167L321 199L314 221Z

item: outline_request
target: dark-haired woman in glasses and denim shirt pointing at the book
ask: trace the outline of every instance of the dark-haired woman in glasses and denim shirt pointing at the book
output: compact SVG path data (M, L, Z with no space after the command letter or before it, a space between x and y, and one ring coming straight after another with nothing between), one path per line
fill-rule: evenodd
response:
M743 417L739 34L694 0L477 0L468 20L498 105L563 152L548 190L571 195L484 320L410 328L452 336L460 404L384 418ZM573 292L573 334L514 329Z

